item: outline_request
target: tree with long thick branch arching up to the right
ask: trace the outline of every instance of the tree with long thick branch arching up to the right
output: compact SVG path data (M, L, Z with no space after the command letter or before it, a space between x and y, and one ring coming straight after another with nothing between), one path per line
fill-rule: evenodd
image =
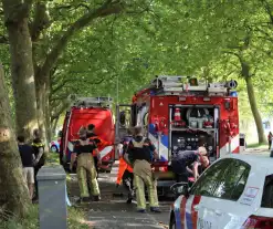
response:
M91 24L92 21L104 18L111 14L120 13L123 11L123 4L119 1L102 1L101 6L96 6L92 8L92 4L78 4L78 3L71 3L71 4L55 4L53 10L56 9L77 9L84 6L85 11L70 25L66 25L65 31L60 31L57 34L59 39L53 41L53 45L50 48L50 51L46 53L44 61L36 60L35 61L35 86L36 86L36 94L38 94L38 119L40 123L40 129L44 136L46 136L46 126L50 126L50 104L49 104L49 96L50 96L50 73L52 69L56 65L56 62L66 48L69 41L72 37L78 33L83 28ZM32 41L35 42L39 39L43 29L48 27L48 15L45 13L46 6L42 3L36 3L35 7L35 17L33 20L32 27ZM39 22L43 27L39 27ZM36 56L35 56L36 58ZM49 137L49 136L48 136Z

